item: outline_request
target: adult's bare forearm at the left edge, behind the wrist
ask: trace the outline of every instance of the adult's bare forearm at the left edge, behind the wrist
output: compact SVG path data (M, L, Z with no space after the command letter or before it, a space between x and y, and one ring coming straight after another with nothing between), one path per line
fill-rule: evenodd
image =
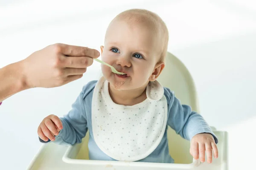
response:
M0 102L26 89L22 61L0 68Z

